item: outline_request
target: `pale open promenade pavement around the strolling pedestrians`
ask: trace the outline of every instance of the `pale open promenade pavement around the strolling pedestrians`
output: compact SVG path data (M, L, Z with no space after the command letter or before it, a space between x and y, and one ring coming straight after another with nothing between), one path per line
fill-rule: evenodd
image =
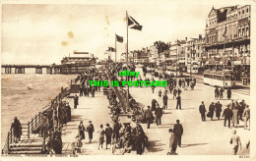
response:
M139 69L142 76L142 71ZM150 76L147 76L150 77ZM158 80L158 79L156 79ZM153 98L157 99L162 106L162 100L158 96L159 90L163 91L163 87L157 87L155 93L152 93L151 87L130 87L130 93L136 101L143 103L145 107L151 105ZM242 142L242 149L237 154L248 154L248 149L245 144L250 138L250 131L243 129L243 122L240 122L238 128L228 129L224 127L224 120L211 121L207 118L206 122L201 121L198 111L201 101L205 102L207 111L211 102L217 102L214 97L214 87L197 83L194 90L183 90L181 93L181 110L176 110L176 100L172 99L172 94L168 93L168 110L164 111L162 116L161 125L157 126L156 123L151 125L151 129L147 129L146 125L142 127L149 137L151 146L146 149L144 155L166 155L168 151L169 134L168 129L173 128L177 119L183 126L184 134L182 135L181 147L177 148L178 155L231 155L232 145L229 144L232 131L235 129L240 136ZM226 98L226 93L224 93ZM242 92L233 92L232 99L241 101L244 99L249 104L249 94ZM223 105L226 105L230 100L220 100ZM73 107L73 102L70 103ZM96 92L96 97L80 97L78 109L72 109L72 122L63 128L63 153L72 154L71 143L75 140L78 134L78 126L80 121L84 121L87 126L90 120L95 125L96 132L99 125L102 124L105 128L106 123L110 123L109 109L107 108L108 100L103 92ZM224 111L224 107L223 107ZM130 122L130 119L123 116L121 122ZM135 127L134 123L131 124ZM83 154L85 155L111 155L110 149L97 150L98 134L94 134L93 143L88 143L88 134L86 139L83 140ZM105 146L103 146L105 147ZM136 152L128 155L135 155ZM127 153L125 154L127 155Z

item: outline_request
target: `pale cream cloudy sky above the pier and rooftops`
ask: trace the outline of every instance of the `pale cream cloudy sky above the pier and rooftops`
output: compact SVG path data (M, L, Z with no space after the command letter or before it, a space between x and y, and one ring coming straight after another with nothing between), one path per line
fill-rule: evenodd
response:
M117 42L119 60L125 52L126 11L143 26L141 31L128 29L129 50L140 50L158 40L173 42L204 35L213 6L224 7L186 3L4 4L1 63L60 64L63 57L74 56L74 51L104 59L108 46L115 47L115 33L124 37L123 43Z

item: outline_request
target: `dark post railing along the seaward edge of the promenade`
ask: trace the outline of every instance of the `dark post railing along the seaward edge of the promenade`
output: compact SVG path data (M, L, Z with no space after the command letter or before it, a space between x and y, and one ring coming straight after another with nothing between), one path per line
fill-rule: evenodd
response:
M79 80L78 78L76 80ZM61 92L45 107L43 107L43 112L47 111L48 109L51 109L54 103L60 103L64 97L70 94L70 89L68 87L63 88L61 87ZM42 112L42 113L43 113ZM41 125L41 118L42 113L39 112L36 114L31 121L28 122L28 124L22 124L22 132L23 135L27 135L28 138L31 137L31 134L35 133L35 130L37 130ZM7 134L7 139L5 141L4 147L2 149L2 154L8 154L10 150L10 144L14 142L14 134L13 134L13 127L11 126L10 131ZM44 143L45 147L45 136L43 137L42 144Z

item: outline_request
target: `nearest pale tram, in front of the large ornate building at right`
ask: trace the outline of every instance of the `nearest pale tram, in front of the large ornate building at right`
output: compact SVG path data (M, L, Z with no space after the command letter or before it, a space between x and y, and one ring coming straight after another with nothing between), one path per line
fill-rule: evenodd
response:
M204 83L211 86L234 87L236 83L233 75L230 70L224 70L224 72L207 70L204 72Z

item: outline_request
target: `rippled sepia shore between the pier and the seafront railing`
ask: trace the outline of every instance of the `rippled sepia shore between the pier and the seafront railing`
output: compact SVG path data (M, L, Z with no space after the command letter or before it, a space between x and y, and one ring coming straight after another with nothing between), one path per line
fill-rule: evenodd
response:
M2 74L1 143L6 140L14 117L28 123L60 92L75 75Z

